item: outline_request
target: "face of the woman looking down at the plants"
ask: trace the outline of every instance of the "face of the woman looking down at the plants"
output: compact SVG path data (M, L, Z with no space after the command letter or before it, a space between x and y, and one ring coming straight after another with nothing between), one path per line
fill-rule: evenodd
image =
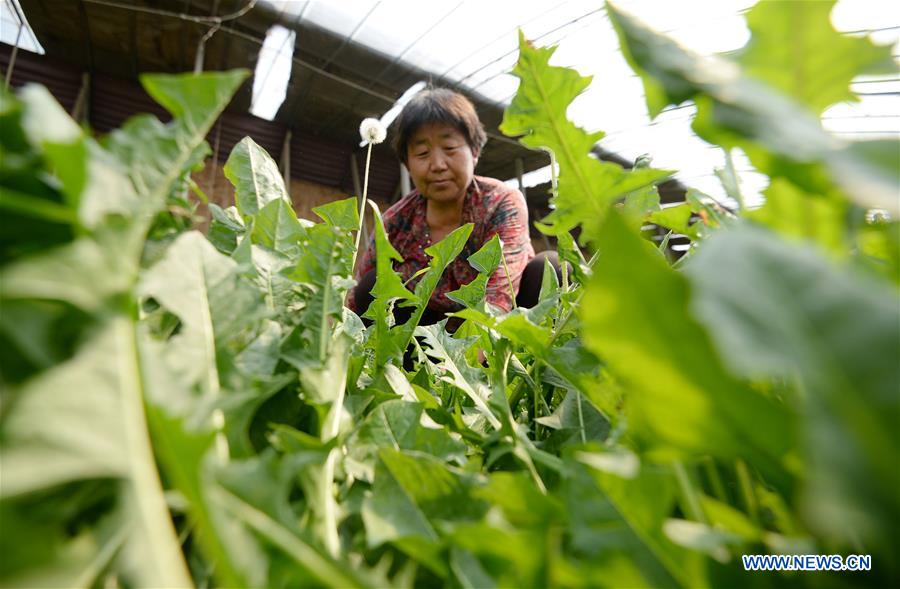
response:
M472 182L478 154L455 127L442 123L423 125L412 134L406 148L406 167L425 199L451 203L463 199Z

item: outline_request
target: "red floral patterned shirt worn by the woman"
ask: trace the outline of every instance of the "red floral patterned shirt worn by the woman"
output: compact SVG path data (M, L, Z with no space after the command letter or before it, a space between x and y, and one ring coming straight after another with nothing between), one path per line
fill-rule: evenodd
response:
M474 227L462 253L447 266L428 303L428 308L438 313L452 313L462 308L448 299L447 293L468 284L478 276L478 272L466 260L494 235L499 235L503 242L503 254L516 292L522 271L534 258L534 248L528 232L528 206L521 192L499 180L475 176L465 199L461 225L473 223ZM413 190L382 216L388 239L403 257L403 262L394 262L394 270L404 282L428 266L429 257L425 254L425 249L432 243L425 219L425 204L419 191ZM357 267L356 279L359 280L374 269L375 245L370 239ZM413 290L418 280L419 277L416 277L407 287ZM506 271L501 264L488 280L487 302L508 311L512 308L513 296L510 294ZM352 295L348 306L356 310L356 301Z

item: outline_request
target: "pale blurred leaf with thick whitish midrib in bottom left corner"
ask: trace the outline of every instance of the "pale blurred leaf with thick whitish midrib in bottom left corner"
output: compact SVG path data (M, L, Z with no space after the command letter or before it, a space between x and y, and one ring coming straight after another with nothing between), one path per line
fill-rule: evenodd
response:
M190 577L156 472L144 394L134 325L114 317L74 358L17 392L0 433L0 499L72 481L121 479L129 541L145 547L154 565L141 569L148 575L143 582L184 586Z

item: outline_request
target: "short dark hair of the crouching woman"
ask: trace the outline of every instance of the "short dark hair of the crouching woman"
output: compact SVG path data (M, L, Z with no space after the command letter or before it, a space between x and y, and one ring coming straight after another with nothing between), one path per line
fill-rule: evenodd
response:
M416 94L394 122L393 146L401 162L406 163L406 151L413 133L423 125L433 123L455 127L473 152L480 153L487 142L484 125L468 98L448 88L428 88Z

